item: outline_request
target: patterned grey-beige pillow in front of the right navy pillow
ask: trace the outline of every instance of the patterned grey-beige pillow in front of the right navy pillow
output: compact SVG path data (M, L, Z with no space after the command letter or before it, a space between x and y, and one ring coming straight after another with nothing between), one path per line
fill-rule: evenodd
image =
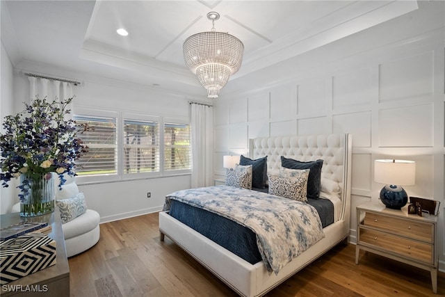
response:
M309 170L301 170L299 175L291 178L268 175L269 194L306 202L308 177Z

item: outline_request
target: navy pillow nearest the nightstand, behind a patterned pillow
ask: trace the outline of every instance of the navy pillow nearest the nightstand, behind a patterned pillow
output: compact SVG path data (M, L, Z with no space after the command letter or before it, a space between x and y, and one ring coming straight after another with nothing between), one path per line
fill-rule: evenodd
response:
M307 180L307 197L319 198L321 190L321 167L323 166L322 159L303 162L281 156L281 166L291 169L310 169L311 171L309 172L309 178Z

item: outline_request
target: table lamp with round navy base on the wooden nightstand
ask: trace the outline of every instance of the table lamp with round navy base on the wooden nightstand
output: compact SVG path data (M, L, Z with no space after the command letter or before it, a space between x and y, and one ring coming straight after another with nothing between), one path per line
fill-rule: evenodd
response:
M406 160L375 160L374 180L387 184L380 191L380 200L386 207L401 209L408 202L406 191L398 185L410 186L415 183L416 163Z

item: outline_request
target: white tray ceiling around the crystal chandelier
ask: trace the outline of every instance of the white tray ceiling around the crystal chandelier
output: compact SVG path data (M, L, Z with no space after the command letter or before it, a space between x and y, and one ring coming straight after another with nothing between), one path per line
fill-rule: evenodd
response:
M417 8L416 1L2 2L2 41L15 67L47 63L202 95L182 44L210 31L210 11L221 15L216 31L244 43L237 79ZM116 33L121 27L128 36Z

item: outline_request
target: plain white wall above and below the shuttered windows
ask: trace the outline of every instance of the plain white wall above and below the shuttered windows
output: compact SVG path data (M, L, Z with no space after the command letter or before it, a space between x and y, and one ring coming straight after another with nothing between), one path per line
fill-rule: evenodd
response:
M29 97L29 81L24 72L82 81L81 86L73 86L74 113L76 108L82 106L189 120L190 106L186 95L29 62L20 63L20 70L14 71L15 102L23 102L24 98ZM101 222L159 211L163 207L165 195L190 186L190 175L92 184L79 182L88 207L99 212ZM151 198L147 198L147 192L151 193Z

